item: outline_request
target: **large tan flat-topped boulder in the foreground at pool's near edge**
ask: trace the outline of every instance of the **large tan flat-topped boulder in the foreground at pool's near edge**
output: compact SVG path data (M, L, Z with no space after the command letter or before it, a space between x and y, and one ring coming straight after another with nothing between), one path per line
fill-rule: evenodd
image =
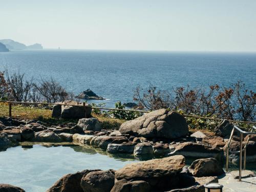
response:
M146 181L154 188L165 188L164 182L176 185L176 174L185 165L185 158L181 155L153 159L125 165L116 171L117 180Z

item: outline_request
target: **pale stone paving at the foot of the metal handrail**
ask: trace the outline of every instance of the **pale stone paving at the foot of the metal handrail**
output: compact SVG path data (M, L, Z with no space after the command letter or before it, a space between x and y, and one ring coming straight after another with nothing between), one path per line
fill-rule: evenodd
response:
M241 182L234 177L237 173L227 173L225 177L219 178L219 183L224 186L223 192L256 192L256 177L243 178ZM243 177L243 173L242 173Z

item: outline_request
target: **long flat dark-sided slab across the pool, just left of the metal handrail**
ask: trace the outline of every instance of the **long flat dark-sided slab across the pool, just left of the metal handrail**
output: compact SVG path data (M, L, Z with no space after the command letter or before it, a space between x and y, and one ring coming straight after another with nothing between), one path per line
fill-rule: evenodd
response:
M222 160L224 152L218 147L211 147L209 145L184 142L170 145L171 153L169 155L183 155L186 158L216 158Z

